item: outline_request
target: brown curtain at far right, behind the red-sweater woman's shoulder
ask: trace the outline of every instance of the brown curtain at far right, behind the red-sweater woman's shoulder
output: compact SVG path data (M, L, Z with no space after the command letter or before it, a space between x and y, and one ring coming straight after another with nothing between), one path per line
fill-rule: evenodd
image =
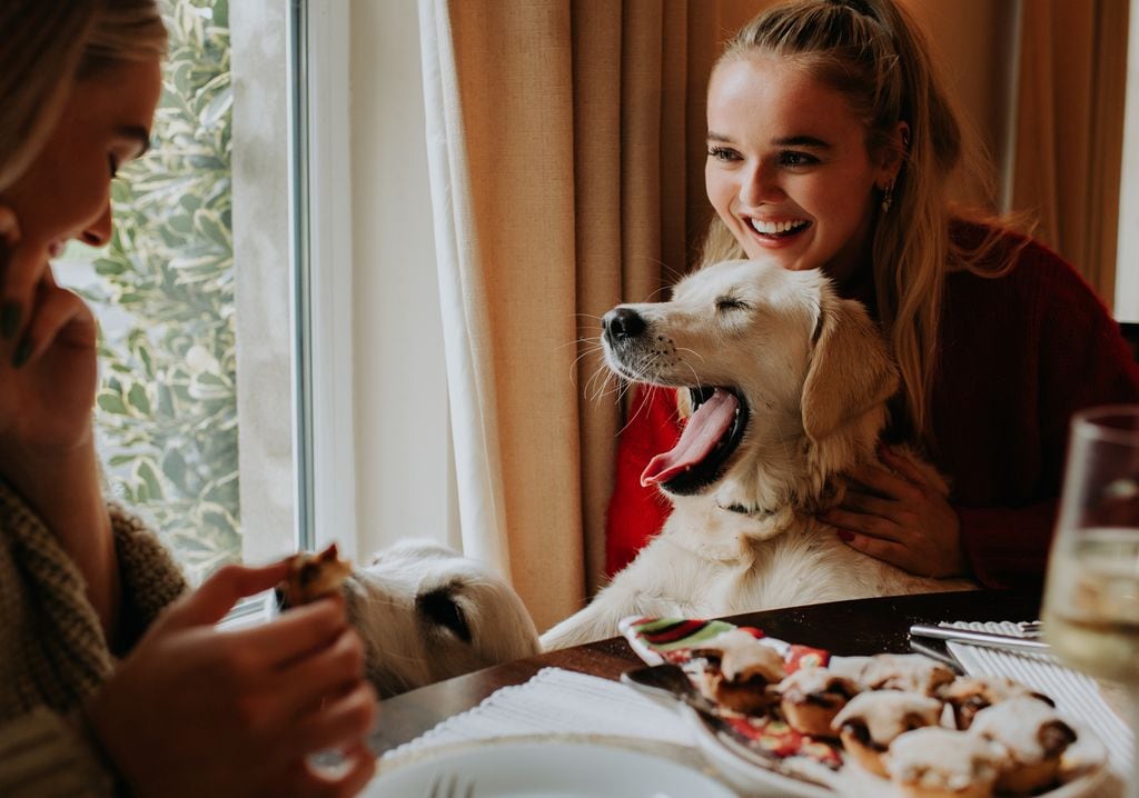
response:
M1123 151L1126 0L1024 0L1010 207L1108 307Z

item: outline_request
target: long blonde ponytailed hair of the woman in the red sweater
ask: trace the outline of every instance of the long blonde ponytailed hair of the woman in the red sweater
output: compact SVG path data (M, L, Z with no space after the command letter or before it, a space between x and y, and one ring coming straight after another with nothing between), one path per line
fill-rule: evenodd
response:
M962 129L920 27L894 0L803 0L770 8L728 42L716 67L756 54L792 59L841 92L866 123L870 154L896 147L898 123L909 125L908 146L896 153L902 167L893 204L877 214L871 257L879 321L902 375L908 418L899 421L933 446L929 394L945 273L1009 268L988 265L999 244L995 228L968 249L950 237L960 214L948 200L950 181L965 171L991 186L988 158ZM715 217L700 261L731 257L744 257L743 249Z

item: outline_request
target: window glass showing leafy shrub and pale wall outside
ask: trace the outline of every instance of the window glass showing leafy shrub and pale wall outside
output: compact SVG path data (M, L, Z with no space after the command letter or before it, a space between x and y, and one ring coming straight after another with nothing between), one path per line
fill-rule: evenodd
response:
M113 186L110 245L57 270L100 323L109 493L192 582L296 546L286 11L163 2L153 148Z

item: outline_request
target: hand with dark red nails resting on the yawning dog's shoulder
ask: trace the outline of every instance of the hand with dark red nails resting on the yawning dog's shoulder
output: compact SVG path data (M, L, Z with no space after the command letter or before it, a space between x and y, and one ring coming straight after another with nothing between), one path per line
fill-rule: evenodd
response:
M846 545L918 576L948 578L969 573L961 523L942 491L913 462L886 446L882 462L851 472L842 504L819 515Z

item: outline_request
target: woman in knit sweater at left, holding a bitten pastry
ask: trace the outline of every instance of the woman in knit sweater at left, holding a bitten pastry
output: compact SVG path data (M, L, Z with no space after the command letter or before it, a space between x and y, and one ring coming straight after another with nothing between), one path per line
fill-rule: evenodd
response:
M218 632L287 563L185 593L99 490L95 320L51 260L107 242L165 40L153 0L0 5L0 795L351 795L375 694L343 602ZM338 775L306 764L329 748Z

